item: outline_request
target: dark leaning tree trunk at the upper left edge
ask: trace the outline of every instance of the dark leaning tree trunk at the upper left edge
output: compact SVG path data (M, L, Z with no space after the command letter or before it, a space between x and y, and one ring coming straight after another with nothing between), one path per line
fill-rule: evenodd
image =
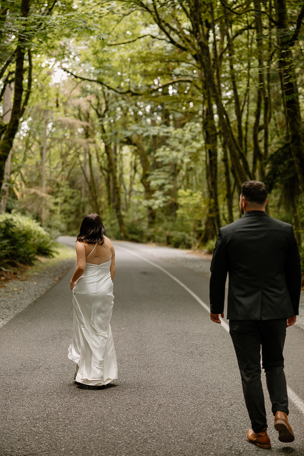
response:
M21 1L20 13L22 17L27 17L30 10L30 0ZM23 63L25 56L26 37L20 34L18 45L16 48L16 66L15 66L15 89L14 102L11 112L10 122L6 127L4 136L0 141L0 186L2 186L5 170L5 161L12 148L15 135L19 127L19 119L21 117L21 103L23 94Z

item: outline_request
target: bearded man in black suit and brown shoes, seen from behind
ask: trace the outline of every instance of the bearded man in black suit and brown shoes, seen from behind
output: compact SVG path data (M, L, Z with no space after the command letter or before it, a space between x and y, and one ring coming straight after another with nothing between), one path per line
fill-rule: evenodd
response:
M292 442L287 415L288 397L283 347L286 327L299 314L301 267L291 225L265 213L267 188L263 182L242 184L242 218L220 228L211 262L210 317L224 316L225 282L229 272L227 318L237 355L245 402L252 429L247 441L271 448L261 383L263 369L278 440Z

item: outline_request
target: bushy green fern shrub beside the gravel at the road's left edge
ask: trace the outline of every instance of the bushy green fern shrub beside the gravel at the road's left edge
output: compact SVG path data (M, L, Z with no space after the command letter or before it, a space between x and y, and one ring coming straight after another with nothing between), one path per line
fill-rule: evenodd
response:
M32 264L36 255L54 256L55 243L36 220L0 214L0 263Z

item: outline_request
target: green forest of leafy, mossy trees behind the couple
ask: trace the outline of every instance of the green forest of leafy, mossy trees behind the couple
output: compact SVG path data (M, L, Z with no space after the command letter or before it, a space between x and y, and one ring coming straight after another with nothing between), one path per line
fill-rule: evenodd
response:
M212 251L240 186L304 229L304 2L1 0L0 212Z

